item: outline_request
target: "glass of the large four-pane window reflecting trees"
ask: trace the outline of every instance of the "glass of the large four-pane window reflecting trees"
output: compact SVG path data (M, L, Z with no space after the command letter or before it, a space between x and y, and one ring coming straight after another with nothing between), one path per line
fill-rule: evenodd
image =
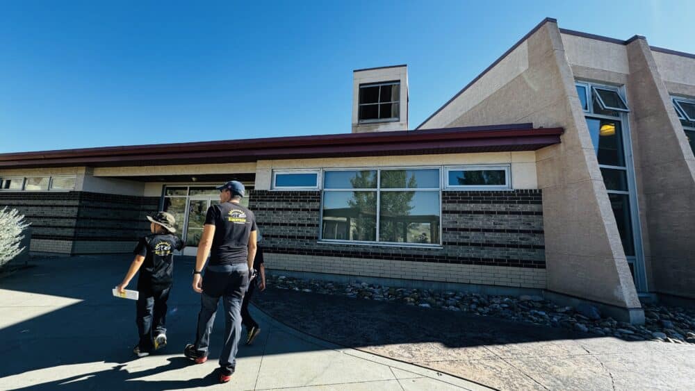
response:
M439 244L439 172L325 170L321 239Z

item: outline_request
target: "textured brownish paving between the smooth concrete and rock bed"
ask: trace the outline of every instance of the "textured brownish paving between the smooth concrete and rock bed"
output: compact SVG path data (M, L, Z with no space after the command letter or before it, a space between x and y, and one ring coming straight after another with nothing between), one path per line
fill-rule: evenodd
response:
M304 333L500 390L695 390L695 346L268 288L261 310Z

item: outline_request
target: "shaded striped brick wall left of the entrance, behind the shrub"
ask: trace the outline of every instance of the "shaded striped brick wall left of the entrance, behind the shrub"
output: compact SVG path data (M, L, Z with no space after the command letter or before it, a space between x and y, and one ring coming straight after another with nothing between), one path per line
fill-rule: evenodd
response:
M16 208L31 222L31 251L128 252L149 232L145 215L158 197L92 192L0 192L0 207Z

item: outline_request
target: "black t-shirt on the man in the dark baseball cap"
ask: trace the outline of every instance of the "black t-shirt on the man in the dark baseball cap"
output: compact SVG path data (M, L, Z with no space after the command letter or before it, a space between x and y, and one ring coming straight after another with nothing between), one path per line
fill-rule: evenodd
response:
M205 224L215 226L208 265L246 263L249 238L256 231L256 217L245 206L223 202L208 208Z

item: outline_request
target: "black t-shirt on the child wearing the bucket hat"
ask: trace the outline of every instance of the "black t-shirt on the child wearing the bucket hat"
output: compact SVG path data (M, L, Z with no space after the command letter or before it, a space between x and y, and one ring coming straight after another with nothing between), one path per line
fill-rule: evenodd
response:
M163 290L174 281L174 250L181 251L183 242L170 233L153 233L140 238L133 253L144 256L140 267L138 290Z

